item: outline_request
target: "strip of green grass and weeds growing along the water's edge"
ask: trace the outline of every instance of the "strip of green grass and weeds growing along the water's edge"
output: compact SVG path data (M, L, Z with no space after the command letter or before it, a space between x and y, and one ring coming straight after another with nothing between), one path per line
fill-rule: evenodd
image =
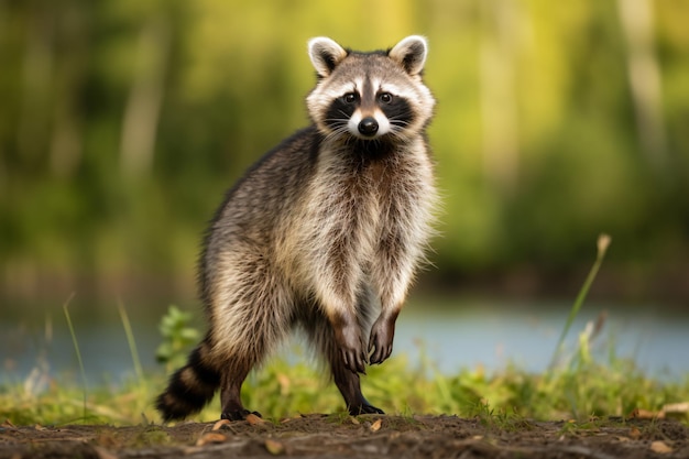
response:
M602 361L597 359L591 353L591 340L599 327L587 327L575 348L564 348L565 337L606 247L599 243L597 262L554 349L553 363L544 373L534 374L508 364L494 372L475 368L444 374L422 352L422 359L414 364L401 356L369 368L369 375L362 381L364 394L389 414L408 417L417 413L455 414L502 428L524 428L527 426L524 419L586 423L592 417L624 417L635 408L658 412L666 404L689 401L689 375L683 381L661 382L644 374L633 361L616 357L614 349ZM66 305L64 309L79 357L78 330L72 327ZM128 345L132 354L134 378L124 384L87 390L81 364L81 384L72 379L50 379L36 371L25 381L0 385L0 420L7 418L15 425L160 422L153 400L165 385L165 373L182 362L199 334L189 326L188 314L172 307L161 321L157 357L165 368L146 373L141 368L129 319L121 306L120 316L128 340L123 346ZM324 373L322 369L307 363L273 361L250 375L242 393L244 404L274 419L302 413L343 414L340 395ZM44 389L36 390L41 385ZM216 398L194 418L214 420L218 413ZM685 417L683 422L689 419Z

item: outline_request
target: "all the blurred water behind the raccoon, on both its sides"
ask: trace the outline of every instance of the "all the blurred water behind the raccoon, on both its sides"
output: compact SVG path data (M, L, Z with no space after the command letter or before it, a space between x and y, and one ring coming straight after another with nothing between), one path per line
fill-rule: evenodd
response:
M406 354L409 364L416 365L423 352L446 374L479 365L500 370L508 363L540 372L550 361L569 314L566 304L455 300L448 307L447 303L438 307L436 302L412 302L397 320L393 356ZM569 349L587 323L604 310L604 329L594 341L603 359L614 349L616 356L634 359L649 376L670 380L689 374L689 315L668 315L652 305L633 309L584 305L570 329ZM129 310L129 315L144 370L161 372L154 359L161 342L160 316L143 319L136 310ZM62 309L31 317L3 317L0 321L0 382L23 382L32 372L47 372L58 382L79 384L76 353ZM112 314L79 317L75 331L90 384L118 383L133 375L116 306ZM283 354L298 359L288 350Z

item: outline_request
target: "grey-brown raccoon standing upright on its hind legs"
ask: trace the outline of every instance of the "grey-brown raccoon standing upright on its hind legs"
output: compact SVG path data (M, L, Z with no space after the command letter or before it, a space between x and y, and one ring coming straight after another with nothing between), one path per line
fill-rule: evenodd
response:
M218 389L221 417L245 418L243 381L293 328L329 365L349 413L383 413L360 374L392 352L437 201L427 43L413 35L362 53L316 37L308 54L310 125L245 173L206 233L209 330L156 400L165 420L197 413Z

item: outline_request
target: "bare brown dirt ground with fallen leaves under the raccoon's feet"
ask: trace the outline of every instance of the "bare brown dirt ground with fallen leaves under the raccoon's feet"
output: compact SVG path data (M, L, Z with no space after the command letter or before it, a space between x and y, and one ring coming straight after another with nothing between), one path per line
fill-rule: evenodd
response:
M497 425L499 424L499 425ZM689 458L672 420L586 424L455 416L253 418L176 426L0 426L0 458Z

